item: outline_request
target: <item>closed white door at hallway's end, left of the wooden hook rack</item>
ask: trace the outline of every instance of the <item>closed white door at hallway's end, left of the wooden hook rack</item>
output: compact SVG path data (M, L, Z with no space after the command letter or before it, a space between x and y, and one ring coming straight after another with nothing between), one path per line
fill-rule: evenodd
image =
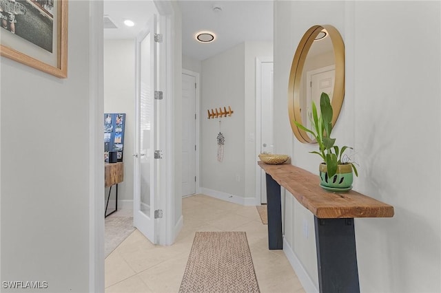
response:
M196 193L196 76L182 74L182 195Z

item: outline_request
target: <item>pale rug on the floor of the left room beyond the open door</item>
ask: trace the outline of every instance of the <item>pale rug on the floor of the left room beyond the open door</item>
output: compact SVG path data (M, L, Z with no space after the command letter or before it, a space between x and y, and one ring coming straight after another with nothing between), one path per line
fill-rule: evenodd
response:
M104 229L105 257L121 244L133 231L133 217L107 217Z

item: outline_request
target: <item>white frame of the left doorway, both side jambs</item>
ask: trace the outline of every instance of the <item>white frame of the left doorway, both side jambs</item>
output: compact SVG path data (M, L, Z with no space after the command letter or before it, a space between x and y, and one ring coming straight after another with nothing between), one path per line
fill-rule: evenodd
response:
M174 136L172 124L174 124L174 17L173 7L170 1L154 0L159 15L163 16L166 23L165 32L167 39L167 69L165 72L166 85L165 95L167 99L167 131L168 139L167 154L167 181L170 187L167 187L165 208L165 227L167 232L161 235L160 241L165 245L170 245L174 241L173 235L173 215L174 215ZM103 1L90 1L90 26L89 26L89 292L104 292L104 168L103 168L103 115L104 115L104 80L103 80Z

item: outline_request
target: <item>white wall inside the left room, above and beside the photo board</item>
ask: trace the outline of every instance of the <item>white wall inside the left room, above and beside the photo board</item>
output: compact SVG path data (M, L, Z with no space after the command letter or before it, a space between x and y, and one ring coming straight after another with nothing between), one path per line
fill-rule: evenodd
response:
M124 181L118 184L121 201L133 201L133 158L135 129L135 40L104 40L104 112L125 113ZM109 188L105 188L107 199ZM112 191L111 199L114 199ZM130 202L133 206L133 202ZM130 206L130 207L132 207ZM113 210L113 206L109 206Z

